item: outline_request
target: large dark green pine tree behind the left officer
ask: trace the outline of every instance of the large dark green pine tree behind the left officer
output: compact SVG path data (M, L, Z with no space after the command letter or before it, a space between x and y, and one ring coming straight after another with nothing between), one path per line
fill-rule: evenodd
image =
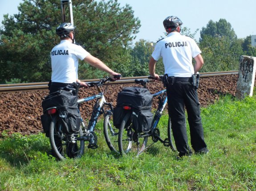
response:
M130 45L138 33L140 21L129 5L120 7L117 0L73 0L76 42L93 56L112 67L118 53ZM59 42L55 28L61 23L59 0L24 0L19 14L4 16L0 30L0 82L19 78L21 82L50 79L49 52ZM69 14L66 15L69 18ZM83 63L83 78L102 77L103 73Z

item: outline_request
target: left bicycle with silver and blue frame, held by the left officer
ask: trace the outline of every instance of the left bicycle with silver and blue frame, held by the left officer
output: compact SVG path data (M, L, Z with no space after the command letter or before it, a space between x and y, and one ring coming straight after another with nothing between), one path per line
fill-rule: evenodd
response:
M114 76L114 78L120 79L121 76ZM98 121L98 117L104 113L104 136L106 143L111 151L118 153L118 129L112 125L111 117L113 116L112 104L106 102L104 93L101 88L106 82L113 81L111 78L100 79L98 82L87 83L89 87L96 86L98 94L85 97L77 100L78 104L94 99L96 103L93 106L93 112L89 120L88 127L86 128L85 123L81 117L81 126L76 133L66 133L62 129L60 117L58 115L58 108L51 107L47 109L47 112L52 117L50 124L49 138L50 144L54 154L60 160L64 160L66 157L69 158L80 158L83 155L85 148L85 141L89 141L88 148L98 148L97 135L94 132L95 126ZM65 87L66 89L73 91L75 89ZM104 108L107 109L104 109ZM77 108L78 109L78 108ZM79 109L78 109L79 111ZM80 113L80 111L79 111Z

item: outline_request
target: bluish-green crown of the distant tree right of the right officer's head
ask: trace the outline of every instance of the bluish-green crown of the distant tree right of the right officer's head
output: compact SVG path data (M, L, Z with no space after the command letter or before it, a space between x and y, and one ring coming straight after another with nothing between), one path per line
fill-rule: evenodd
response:
M212 37L226 36L230 40L237 39L234 29L226 19L219 19L218 22L213 22L212 20L210 20L207 23L206 27L203 27L202 31L200 31L200 42L203 40L204 35Z

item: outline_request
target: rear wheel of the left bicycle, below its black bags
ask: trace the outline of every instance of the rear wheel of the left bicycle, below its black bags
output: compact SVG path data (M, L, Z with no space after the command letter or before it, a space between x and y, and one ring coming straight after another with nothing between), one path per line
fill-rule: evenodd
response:
M83 136L82 129L80 128L77 133L66 134L61 130L61 123L58 117L53 117L50 126L50 144L55 155L59 160L65 158L80 158L84 152L84 140L77 139Z

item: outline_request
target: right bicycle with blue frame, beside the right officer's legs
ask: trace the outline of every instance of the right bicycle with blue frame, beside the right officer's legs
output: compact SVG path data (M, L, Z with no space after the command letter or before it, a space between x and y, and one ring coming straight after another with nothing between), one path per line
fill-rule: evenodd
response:
M151 78L151 77L148 77ZM163 76L160 76L162 79ZM154 78L151 78L154 79ZM150 82L149 80L141 79L135 80L135 83L142 85L146 88L146 84ZM168 125L167 125L167 134L168 137L166 139L162 139L160 137L160 130L157 128L158 122L162 116L163 110L167 104L167 93L166 90L161 90L155 94L153 97L158 96L158 109L154 114L153 121L150 126L150 131L147 133L136 133L133 128L132 124L132 106L131 105L123 105L123 110L126 112L122 123L120 125L119 134L118 134L118 149L121 155L125 155L131 150L135 150L137 152L137 156L140 155L143 151L149 148L152 144L158 142L158 140L163 143L166 147L171 147L173 151L176 151L175 145L173 144L173 137L171 133L171 119L168 118ZM149 146L146 146L148 143L148 138L151 137L153 143ZM143 139L142 145L140 145L139 140ZM136 144L136 147L133 148L133 144Z

